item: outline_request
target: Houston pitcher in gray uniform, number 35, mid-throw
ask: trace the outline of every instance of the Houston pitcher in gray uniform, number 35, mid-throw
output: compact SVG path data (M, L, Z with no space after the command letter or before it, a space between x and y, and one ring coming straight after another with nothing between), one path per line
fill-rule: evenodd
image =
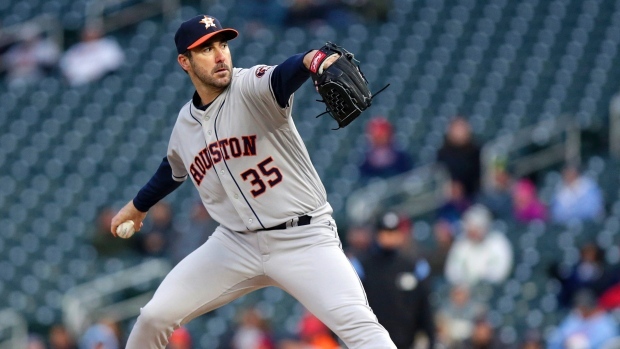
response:
M278 66L233 68L234 29L200 15L175 35L178 63L196 88L179 112L167 156L112 220L129 237L146 212L193 182L220 223L166 276L140 311L127 348L160 348L179 326L267 286L290 293L349 348L396 348L368 306L341 249L332 208L291 117L309 77L340 127L370 105L352 54L331 43Z

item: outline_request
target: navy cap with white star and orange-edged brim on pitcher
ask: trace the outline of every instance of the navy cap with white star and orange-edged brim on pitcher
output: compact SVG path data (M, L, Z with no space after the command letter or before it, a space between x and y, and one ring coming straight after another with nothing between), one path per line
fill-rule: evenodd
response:
M174 35L174 42L177 45L177 52L184 53L200 46L213 36L221 34L224 40L232 40L239 35L234 29L222 28L220 21L215 17L199 15L183 23Z

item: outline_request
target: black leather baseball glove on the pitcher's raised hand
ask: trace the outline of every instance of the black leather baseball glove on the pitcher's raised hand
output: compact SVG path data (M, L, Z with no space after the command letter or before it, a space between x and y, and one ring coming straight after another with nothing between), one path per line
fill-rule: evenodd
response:
M325 60L333 55L340 58L323 69ZM346 127L370 107L373 95L368 89L368 81L353 54L344 48L326 43L312 58L310 74L323 98L318 101L326 106L326 111L318 116L329 113L338 122L338 128Z

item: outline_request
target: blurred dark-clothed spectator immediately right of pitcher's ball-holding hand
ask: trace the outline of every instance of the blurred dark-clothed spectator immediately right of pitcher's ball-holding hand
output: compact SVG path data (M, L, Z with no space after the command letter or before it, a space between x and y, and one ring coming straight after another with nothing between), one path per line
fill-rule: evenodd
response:
M160 201L150 211L150 219L144 224L140 234L136 234L138 251L146 257L170 257L171 240L178 236L173 225L172 209Z

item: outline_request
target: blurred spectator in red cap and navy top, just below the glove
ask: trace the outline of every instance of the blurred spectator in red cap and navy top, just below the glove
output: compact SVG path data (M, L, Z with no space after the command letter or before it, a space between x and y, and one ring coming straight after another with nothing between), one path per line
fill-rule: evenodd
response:
M366 125L369 148L360 165L362 181L388 178L411 170L411 157L393 142L392 124L384 117L374 117Z

